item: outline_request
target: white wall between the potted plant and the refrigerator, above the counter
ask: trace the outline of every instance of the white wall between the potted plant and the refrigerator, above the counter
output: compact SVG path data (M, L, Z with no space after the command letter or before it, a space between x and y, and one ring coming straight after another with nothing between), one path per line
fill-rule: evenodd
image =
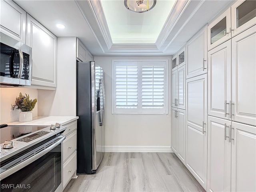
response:
M57 38L57 88L38 90L38 116L76 116L76 37Z

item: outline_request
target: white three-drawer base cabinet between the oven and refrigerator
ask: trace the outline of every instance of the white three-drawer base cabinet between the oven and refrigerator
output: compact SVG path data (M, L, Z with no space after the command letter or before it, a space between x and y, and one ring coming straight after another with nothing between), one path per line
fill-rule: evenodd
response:
M63 142L63 189L67 186L72 177L76 176L76 128L77 120L68 124L64 135L66 139Z

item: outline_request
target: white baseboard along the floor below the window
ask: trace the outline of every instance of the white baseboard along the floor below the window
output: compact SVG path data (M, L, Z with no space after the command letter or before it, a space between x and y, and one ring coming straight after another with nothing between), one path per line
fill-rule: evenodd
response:
M171 146L105 146L105 152L161 152L172 153Z

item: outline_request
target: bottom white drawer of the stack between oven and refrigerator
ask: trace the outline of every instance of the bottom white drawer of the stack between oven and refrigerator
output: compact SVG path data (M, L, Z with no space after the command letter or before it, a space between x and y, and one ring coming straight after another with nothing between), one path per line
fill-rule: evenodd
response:
M72 175L76 172L76 151L63 165L63 188L66 186Z

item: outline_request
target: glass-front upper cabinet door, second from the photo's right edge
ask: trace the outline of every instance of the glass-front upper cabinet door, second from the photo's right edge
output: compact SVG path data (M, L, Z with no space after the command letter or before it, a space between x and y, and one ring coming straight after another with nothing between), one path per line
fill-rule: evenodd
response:
M230 8L209 24L208 51L231 38Z

